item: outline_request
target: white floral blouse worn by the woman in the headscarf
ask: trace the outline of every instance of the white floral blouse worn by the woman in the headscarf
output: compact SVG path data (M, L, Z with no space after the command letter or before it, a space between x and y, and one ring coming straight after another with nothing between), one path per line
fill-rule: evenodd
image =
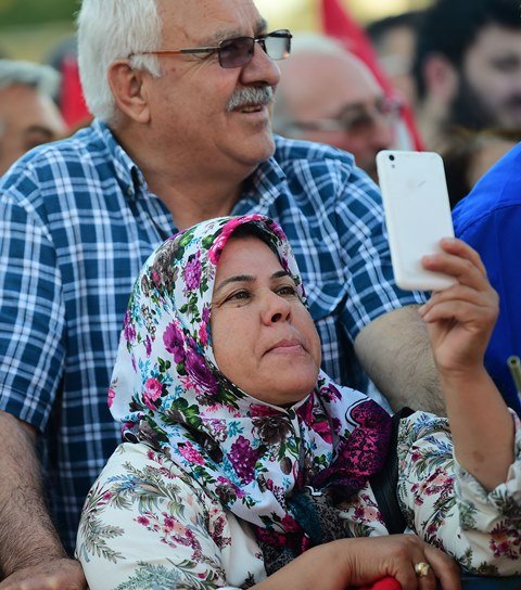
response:
M410 529L474 574L521 574L521 425L491 492L453 459L447 422L402 421L398 497ZM342 506L354 536L385 535L370 486ZM250 588L266 577L250 525L144 444L123 444L92 486L76 555L90 590Z

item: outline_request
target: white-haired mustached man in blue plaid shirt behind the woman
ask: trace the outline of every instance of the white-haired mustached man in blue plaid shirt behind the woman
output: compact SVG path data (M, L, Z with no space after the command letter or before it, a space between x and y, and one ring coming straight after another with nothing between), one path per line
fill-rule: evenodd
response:
M106 388L128 295L178 228L247 211L279 220L326 370L363 386L356 349L395 406L442 407L423 297L392 280L374 184L347 154L271 133L274 60L290 34L268 33L252 0L84 0L78 39L96 120L0 184L1 590L85 583L52 523L71 550L118 441Z

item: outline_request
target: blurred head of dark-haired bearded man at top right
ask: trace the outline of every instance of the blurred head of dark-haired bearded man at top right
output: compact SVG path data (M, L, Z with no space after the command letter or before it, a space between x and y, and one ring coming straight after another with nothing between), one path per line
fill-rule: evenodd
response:
M437 0L418 31L417 117L428 148L455 126L521 125L519 0Z

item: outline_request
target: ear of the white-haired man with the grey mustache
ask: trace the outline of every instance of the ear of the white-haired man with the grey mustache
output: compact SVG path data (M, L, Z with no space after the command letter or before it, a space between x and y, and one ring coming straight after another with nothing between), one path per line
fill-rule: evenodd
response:
M117 108L137 123L149 123L150 110L143 91L141 69L130 67L127 60L118 60L109 67L109 85Z

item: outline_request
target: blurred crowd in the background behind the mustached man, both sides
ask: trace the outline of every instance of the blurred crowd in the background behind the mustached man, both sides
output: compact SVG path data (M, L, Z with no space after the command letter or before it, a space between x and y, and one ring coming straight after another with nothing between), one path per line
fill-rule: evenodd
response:
M437 0L371 22L364 33L374 61L360 59L345 38L294 35L274 130L352 153L377 182L380 150L436 151L455 205L521 134L518 3ZM60 41L45 66L1 57L0 174L30 148L90 121L74 37Z

